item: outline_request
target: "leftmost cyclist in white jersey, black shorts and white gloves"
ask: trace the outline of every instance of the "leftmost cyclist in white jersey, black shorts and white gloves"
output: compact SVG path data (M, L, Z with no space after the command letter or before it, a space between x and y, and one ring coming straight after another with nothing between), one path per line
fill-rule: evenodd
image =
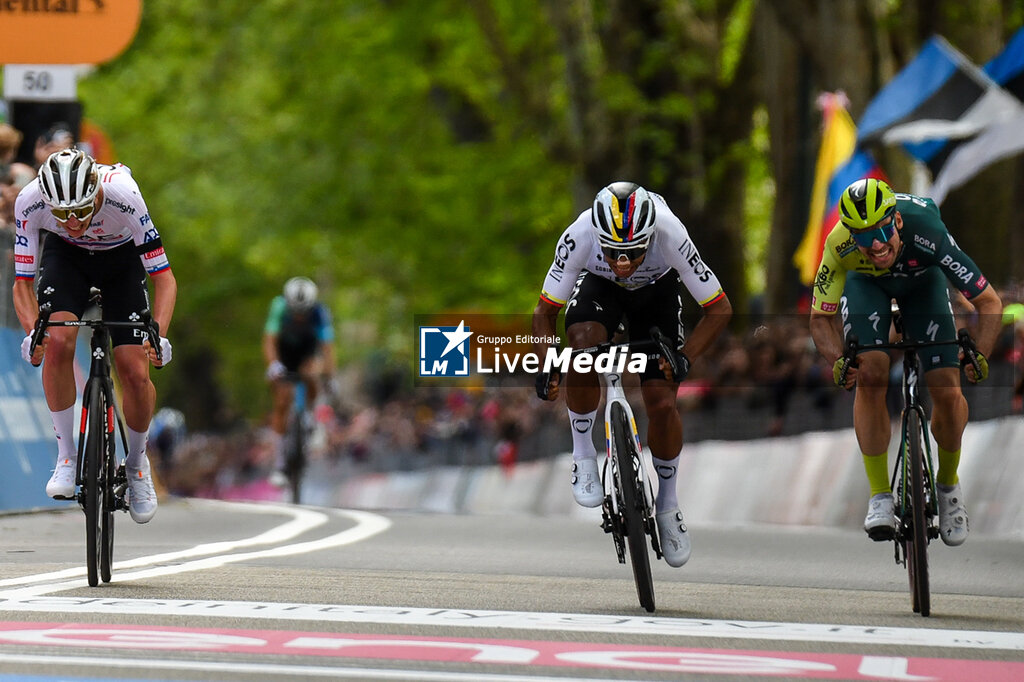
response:
M31 335L35 327L40 304L50 304L50 319L54 322L80 319L92 287L102 291L105 318L128 321L150 308L160 326L162 360L157 359L148 340L133 330L111 331L128 430L128 509L132 519L145 523L157 512L145 454L157 399L150 364L162 367L171 360L166 334L177 297L177 283L160 233L131 171L121 164L97 164L76 148L50 155L39 176L18 194L14 211L13 298L26 334ZM48 238L40 245L44 232ZM153 282L152 303L146 274ZM50 328L31 357L31 336L22 343L26 361L43 363L43 391L57 439L57 464L46 494L55 499L71 499L75 494L77 337L76 328Z

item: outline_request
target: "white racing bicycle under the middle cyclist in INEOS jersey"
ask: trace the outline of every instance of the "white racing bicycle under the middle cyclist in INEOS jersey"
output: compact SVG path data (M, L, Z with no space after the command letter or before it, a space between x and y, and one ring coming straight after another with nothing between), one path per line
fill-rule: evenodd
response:
M600 353L618 347L641 350L655 347L669 363L674 377L680 368L672 342L656 327L650 330L650 341L634 343L603 343L580 348L572 354ZM649 358L648 358L649 359ZM662 547L654 520L654 492L641 453L633 410L626 399L623 376L618 372L601 372L607 389L604 406L604 434L606 456L601 469L604 502L601 505L601 528L611 535L618 563L626 563L627 548L633 567L637 598L648 612L654 611L654 581L650 571L647 541L657 559Z

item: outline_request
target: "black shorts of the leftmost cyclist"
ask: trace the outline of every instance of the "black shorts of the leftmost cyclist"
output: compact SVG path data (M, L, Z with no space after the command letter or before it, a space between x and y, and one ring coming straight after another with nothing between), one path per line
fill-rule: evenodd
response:
M106 251L90 251L47 235L40 258L36 295L39 304L49 303L53 312L71 312L79 319L89 307L89 288L103 296L103 319L128 322L132 313L150 307L145 268L133 243ZM140 345L141 330L112 329L115 346Z

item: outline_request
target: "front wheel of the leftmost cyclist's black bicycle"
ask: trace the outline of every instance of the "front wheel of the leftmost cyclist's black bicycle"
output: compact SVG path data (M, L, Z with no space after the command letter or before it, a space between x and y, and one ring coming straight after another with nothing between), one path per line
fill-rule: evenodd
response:
M106 400L102 386L98 381L91 381L86 392L87 407L85 413L85 457L82 471L85 474L83 485L83 505L85 511L85 565L88 572L89 587L99 583L99 561L102 555L102 538L100 515L103 510L103 493L100 485L100 467L106 454Z

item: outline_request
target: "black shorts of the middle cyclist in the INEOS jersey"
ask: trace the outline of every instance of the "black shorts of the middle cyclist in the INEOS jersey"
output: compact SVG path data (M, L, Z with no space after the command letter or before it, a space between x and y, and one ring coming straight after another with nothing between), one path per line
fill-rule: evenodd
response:
M630 340L650 338L650 328L657 327L676 348L686 340L683 330L682 280L669 270L652 284L630 291L614 282L584 270L565 304L565 329L577 323L597 322L604 327L607 338L614 336L621 324L630 332ZM640 375L641 383L665 379L657 367L656 350L648 354L647 369Z

